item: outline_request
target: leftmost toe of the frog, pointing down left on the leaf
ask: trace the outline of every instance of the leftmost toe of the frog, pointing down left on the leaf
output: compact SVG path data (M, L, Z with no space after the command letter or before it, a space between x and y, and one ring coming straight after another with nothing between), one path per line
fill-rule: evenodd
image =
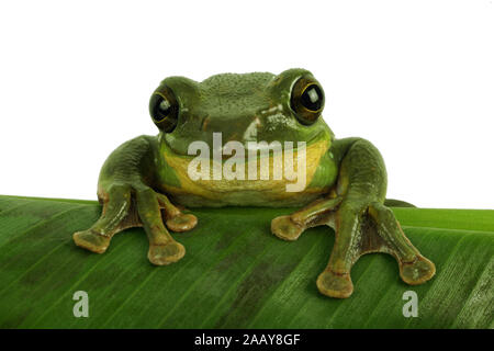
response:
M131 188L128 185L112 185L108 192L102 192L100 201L103 211L100 218L87 230L74 234L77 246L89 251L103 253L106 251L112 237L138 223L131 212Z

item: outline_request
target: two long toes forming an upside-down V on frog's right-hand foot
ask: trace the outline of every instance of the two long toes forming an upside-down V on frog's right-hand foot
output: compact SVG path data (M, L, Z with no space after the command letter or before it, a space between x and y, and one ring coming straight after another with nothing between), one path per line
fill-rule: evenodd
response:
M317 279L317 287L324 295L350 296L353 291L351 267L370 252L394 256L405 283L422 284L435 274L434 263L409 242L393 212L381 203L347 202L336 212L335 226L335 246L326 269Z

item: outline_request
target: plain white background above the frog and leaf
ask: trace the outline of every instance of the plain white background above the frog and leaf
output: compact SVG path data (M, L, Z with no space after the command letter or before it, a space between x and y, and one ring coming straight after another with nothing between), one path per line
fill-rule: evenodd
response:
M493 1L3 1L0 194L96 199L159 81L304 67L389 196L494 208Z

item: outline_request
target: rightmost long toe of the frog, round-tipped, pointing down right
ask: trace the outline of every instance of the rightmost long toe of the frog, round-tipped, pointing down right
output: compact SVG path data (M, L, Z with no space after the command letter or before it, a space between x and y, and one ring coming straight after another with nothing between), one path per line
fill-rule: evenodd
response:
M369 206L369 215L377 223L384 241L383 251L395 257L400 264L400 276L411 285L427 282L436 273L436 267L406 238L393 212L380 203Z

